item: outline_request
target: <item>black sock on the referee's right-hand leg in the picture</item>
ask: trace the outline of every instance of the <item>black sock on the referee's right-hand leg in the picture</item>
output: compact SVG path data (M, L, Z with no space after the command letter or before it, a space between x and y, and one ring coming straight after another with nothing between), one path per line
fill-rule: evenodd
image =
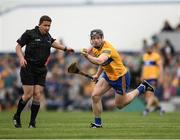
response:
M39 108L40 108L40 103L37 102L37 101L32 101L30 123L35 123L36 116L37 116L37 114L39 112Z

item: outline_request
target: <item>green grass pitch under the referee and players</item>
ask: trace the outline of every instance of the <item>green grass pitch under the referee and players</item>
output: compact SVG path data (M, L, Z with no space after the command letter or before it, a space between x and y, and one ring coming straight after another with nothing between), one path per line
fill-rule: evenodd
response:
M3 139L180 139L180 112L143 117L138 112L104 112L103 128L89 128L91 112L45 112L37 128L28 128L30 112L22 113L22 128L14 128L13 112L0 112Z

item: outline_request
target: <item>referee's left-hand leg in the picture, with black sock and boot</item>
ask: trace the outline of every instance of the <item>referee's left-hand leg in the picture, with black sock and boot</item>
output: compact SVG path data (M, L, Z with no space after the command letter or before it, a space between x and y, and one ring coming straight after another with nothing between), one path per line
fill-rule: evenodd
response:
M23 111L24 107L26 106L28 100L33 95L33 86L24 85L23 86L24 94L18 102L17 111L13 116L13 123L16 128L21 127L21 112Z

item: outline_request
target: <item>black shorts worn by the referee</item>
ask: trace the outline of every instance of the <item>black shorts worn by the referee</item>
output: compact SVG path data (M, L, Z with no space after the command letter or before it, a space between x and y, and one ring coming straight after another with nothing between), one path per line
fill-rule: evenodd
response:
M21 67L21 82L23 85L45 86L46 74L46 66L37 67L28 64L26 67Z

